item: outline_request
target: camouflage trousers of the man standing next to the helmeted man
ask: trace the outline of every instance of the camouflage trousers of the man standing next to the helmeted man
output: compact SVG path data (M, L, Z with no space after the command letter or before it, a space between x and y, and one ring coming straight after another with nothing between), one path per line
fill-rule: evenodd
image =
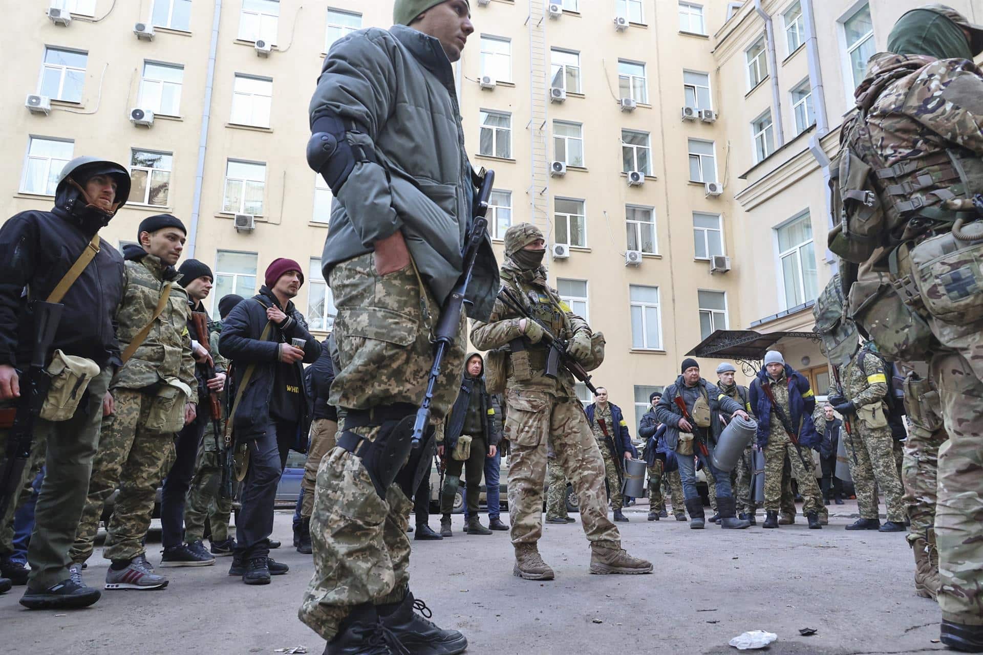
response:
M102 556L130 560L145 552L144 538L157 487L164 476L164 464L174 454L173 435L145 431L153 396L134 389L113 389L112 395L116 409L102 419L86 506L69 554L78 564L92 554L99 518L117 485L120 493L106 525Z

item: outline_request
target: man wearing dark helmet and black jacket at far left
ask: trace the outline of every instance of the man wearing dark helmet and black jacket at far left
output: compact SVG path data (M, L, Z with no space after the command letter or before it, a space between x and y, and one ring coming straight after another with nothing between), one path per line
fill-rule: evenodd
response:
M20 499L0 518L0 564L16 584L27 584L21 603L29 608L86 607L99 598L69 571L69 546L86 501L92 458L99 442L103 397L119 345L112 317L123 298L123 257L96 237L130 194L130 175L119 164L78 157L61 172L51 211L23 211L0 227L0 411L17 409L27 393L23 379L34 343L33 300L46 300L88 248L97 250L60 300L61 320L47 357L55 350L85 357L99 373L88 382L79 408L67 420L35 417L31 460L47 452L46 474L30 540L30 573L12 570L11 518ZM90 251L90 250L89 250ZM8 415L10 412L8 412ZM0 420L0 471L7 456L10 423ZM30 464L25 466L27 477ZM29 490L29 479L21 488Z

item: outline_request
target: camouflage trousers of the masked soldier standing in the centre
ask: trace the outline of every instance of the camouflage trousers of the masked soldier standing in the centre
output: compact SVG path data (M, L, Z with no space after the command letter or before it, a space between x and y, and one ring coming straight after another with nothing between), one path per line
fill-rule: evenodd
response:
M580 520L589 541L619 541L607 519L605 464L587 416L576 398L509 389L504 437L511 444L508 513L513 544L536 543L543 535L543 484L547 441L556 464L577 494Z

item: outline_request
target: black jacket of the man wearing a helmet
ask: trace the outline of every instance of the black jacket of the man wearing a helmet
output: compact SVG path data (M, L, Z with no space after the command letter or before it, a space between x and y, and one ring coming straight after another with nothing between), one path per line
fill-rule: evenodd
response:
M45 300L103 225L103 215L72 212L65 194L51 211L22 211L0 227L0 364L24 369L35 334L25 295ZM89 213L91 212L91 213ZM51 350L119 364L113 316L123 299L123 257L105 240L61 301L65 305Z

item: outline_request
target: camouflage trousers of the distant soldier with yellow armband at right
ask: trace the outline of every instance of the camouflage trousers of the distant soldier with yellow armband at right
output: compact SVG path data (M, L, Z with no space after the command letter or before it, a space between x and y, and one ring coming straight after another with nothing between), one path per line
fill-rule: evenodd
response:
M851 424L851 434L844 431L840 438L846 440L846 460L856 490L860 518L879 517L879 488L886 496L888 520L904 522L904 506L901 503L904 489L897 476L895 438L891 435L891 428L868 427L855 417Z

